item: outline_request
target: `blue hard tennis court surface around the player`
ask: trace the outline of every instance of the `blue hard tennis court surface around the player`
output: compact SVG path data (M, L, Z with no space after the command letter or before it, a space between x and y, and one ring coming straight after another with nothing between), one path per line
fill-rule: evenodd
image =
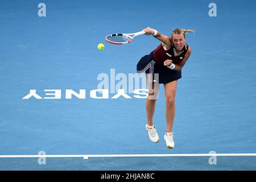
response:
M38 15L39 3L46 16ZM104 157L256 153L256 2L214 1L212 17L209 3L0 0L0 156L6 156L0 170L255 170L256 155L217 156L212 165L209 156ZM179 27L195 30L187 34L192 53L177 84L172 149L163 139L163 85L154 115L156 144L145 130L146 98L133 92L112 98L121 78L131 81L138 60L160 42L141 35L118 46L105 36L148 26L165 35ZM98 43L105 48L97 49ZM101 76L108 98L95 91ZM38 158L10 158L39 151L70 156L46 158L42 165Z

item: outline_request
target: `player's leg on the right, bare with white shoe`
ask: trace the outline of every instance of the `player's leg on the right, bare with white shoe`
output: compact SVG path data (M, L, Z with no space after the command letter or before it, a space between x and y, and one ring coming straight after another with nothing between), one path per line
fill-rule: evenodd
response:
M165 100L166 100L166 134L164 139L168 148L174 147L172 126L175 117L175 94L177 90L177 80L164 84Z

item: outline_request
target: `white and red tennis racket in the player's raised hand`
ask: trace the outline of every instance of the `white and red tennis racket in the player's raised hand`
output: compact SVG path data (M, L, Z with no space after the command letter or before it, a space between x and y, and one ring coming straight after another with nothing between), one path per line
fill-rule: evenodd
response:
M143 34L146 34L146 32L140 31L133 34L111 34L106 36L106 42L118 45L128 44L135 38L135 36Z

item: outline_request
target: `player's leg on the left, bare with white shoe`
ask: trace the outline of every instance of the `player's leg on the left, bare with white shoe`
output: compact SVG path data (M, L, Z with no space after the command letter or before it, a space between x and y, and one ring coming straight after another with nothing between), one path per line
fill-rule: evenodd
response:
M150 76L146 74L147 77L147 88L148 97L146 100L146 114L147 114L147 124L146 130L148 132L148 137L154 143L159 141L158 134L156 133L155 126L153 124L153 117L155 112L155 103L158 97L159 85L150 82Z

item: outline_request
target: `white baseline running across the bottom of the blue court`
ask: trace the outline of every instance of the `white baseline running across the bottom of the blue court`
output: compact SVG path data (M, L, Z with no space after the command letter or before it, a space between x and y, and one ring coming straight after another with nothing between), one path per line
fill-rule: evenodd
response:
M0 155L0 158L137 158L137 157L195 157L195 156L256 156L245 154L118 154L118 155Z

